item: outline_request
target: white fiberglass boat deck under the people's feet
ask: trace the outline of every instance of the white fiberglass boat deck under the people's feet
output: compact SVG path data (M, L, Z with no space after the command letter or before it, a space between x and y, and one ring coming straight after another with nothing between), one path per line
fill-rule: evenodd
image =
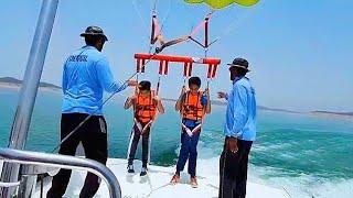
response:
M193 198L215 198L218 195L218 175L216 174L218 172L217 165L215 164L210 166L210 164L206 164L207 163L202 163L202 165L197 166L199 188L192 188L189 185L188 174L181 175L182 184L178 184L175 186L169 184L174 173L174 167L149 166L148 175L140 177L139 172L141 165L138 162L135 165L136 174L128 174L126 172L126 160L109 158L107 163L108 167L117 176L121 186L122 197L125 198L183 196ZM73 172L65 197L78 197L84 178L84 172ZM45 194L49 187L50 179L47 178L44 186ZM39 189L34 197L40 197ZM108 189L104 182L95 197L109 197ZM282 189L249 182L247 186L247 198L288 198L288 196Z

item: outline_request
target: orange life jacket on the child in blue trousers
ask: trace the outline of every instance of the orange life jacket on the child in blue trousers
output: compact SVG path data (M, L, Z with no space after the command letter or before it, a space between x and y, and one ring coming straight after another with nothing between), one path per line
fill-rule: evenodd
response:
M202 120L204 117L204 107L201 103L202 91L199 91L196 95L192 95L190 91L186 91L184 102L182 106L182 117L183 119L190 120Z

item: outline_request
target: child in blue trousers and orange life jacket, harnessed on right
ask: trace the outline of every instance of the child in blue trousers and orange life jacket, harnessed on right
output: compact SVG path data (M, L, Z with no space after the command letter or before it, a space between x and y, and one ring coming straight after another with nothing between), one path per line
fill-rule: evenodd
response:
M208 89L200 90L201 79L191 77L189 79L189 90L182 88L181 95L175 103L175 110L182 116L181 150L176 164L176 172L171 184L180 183L180 172L184 169L189 160L188 173L190 174L190 184L197 187L196 180L196 160L197 142L201 133L203 117L211 113L211 101Z

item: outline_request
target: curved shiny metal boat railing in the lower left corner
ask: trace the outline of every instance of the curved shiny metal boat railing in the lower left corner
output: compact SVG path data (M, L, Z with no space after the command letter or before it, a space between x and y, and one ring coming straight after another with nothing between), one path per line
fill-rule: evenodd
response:
M60 154L13 150L8 147L0 147L0 160L21 165L90 172L106 182L111 198L121 198L120 185L114 173L107 166L96 161ZM0 183L0 185L1 187L10 187L19 185L19 183Z

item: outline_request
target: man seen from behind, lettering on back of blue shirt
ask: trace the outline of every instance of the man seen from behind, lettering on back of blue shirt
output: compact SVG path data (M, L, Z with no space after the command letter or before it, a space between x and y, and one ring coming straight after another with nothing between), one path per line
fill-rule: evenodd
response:
M82 142L87 158L106 164L107 124L103 117L103 92L119 92L127 86L136 86L135 80L126 84L114 81L109 63L101 54L104 43L108 41L98 26L88 26L81 36L86 46L74 52L65 62L63 70L63 106L61 119L61 140L81 125L60 147L58 153L75 155ZM89 117L88 120L86 120ZM69 169L61 169L53 177L52 187L46 197L63 197L71 177ZM79 197L93 197L99 187L96 175L88 173Z

